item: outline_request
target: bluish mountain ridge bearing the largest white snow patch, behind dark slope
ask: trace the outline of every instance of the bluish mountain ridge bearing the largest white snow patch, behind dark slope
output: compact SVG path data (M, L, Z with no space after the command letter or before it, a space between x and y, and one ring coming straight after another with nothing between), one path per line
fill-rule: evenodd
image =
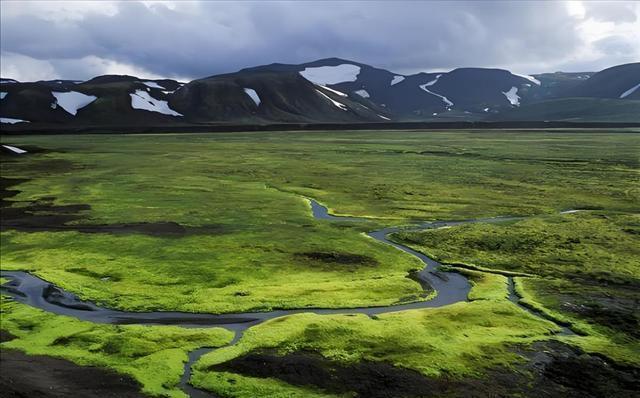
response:
M243 71L256 70L297 72L350 98L366 98L402 120L432 118L453 108L468 112L508 108L513 105L517 90L535 81L506 70L483 68L401 75L340 58L298 65L271 64ZM514 95L507 94L510 90Z

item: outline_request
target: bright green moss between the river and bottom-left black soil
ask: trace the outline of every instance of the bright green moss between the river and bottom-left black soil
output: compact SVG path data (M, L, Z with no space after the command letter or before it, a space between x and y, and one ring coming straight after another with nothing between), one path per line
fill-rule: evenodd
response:
M233 337L233 333L220 328L94 324L5 298L2 329L16 336L2 343L2 348L111 368L138 380L145 393L163 397L186 396L176 384L189 351L220 347Z

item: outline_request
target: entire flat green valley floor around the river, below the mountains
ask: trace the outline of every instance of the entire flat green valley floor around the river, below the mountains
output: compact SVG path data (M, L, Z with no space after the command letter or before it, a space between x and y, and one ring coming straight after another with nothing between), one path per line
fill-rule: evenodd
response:
M188 392L623 397L640 388L638 132L25 135L2 144L27 150L2 153L2 270L123 311L433 299L407 277L422 268L416 257L366 233L522 217L390 235L465 275L466 302L293 314L231 345L221 327L96 324L3 295L1 327L12 338L0 345L2 374L22 353L35 364L46 355L108 368L147 395L184 397L189 353L220 347L189 362L198 390ZM313 218L309 198L368 221ZM512 283L533 313L514 304Z

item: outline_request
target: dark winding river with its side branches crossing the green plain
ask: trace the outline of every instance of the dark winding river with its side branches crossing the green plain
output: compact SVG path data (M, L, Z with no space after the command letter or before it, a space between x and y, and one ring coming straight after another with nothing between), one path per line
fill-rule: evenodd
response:
M311 210L314 218L330 221L341 222L362 222L365 218L356 217L339 217L329 214L327 208L313 199L309 199ZM562 213L571 213L576 210L568 210ZM419 258L424 263L424 268L412 275L417 279L425 290L433 289L436 296L432 300L418 301L407 304L392 304L379 307L358 307L358 308L340 308L340 309L291 309L291 310L275 310L268 312L246 312L232 314L193 314L185 312L128 312L118 311L109 308L100 307L94 303L80 300L72 293L66 292L53 284L21 271L1 271L0 275L7 278L9 282L1 287L3 294L11 296L14 300L54 313L58 315L72 316L83 321L107 323L107 324L161 324L161 325L179 325L183 327L222 327L235 333L233 340L228 345L235 344L245 330L260 324L269 319L278 318L286 315L297 313L315 313L315 314L366 314L369 316L384 314L395 311L404 311L418 308L434 308L445 305L467 301L467 296L471 289L471 285L467 278L457 272L446 272L439 270L441 266L437 261L419 253L407 246L393 242L387 239L391 233L398 231L423 230L429 228L441 228L467 223L493 223L520 220L523 217L494 217L484 219L472 219L464 221L436 221L425 222L412 225L411 227L389 227L381 230L369 232L367 235L379 242L393 246L406 253ZM535 316L551 320L543 313L529 309L520 303L520 297L514 289L514 281L512 277L508 277L508 297L509 300L534 314ZM571 329L566 325L560 325L560 334L573 334ZM228 346L227 345L227 346ZM214 348L200 348L189 353L189 359L185 363L184 373L180 380L180 388L191 398L212 397L213 394L203 390L196 389L189 384L191 377L192 365L204 354L214 350Z

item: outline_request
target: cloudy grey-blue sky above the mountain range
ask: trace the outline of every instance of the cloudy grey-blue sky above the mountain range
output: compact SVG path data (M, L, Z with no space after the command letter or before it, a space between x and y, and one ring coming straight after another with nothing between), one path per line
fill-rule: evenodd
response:
M339 57L396 73L640 61L640 1L0 1L0 75L191 80Z

